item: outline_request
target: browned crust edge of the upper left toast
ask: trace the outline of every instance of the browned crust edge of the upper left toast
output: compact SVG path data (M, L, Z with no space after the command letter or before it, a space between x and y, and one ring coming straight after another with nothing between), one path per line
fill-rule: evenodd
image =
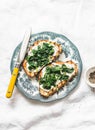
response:
M49 41L49 40L38 40L36 42L34 42L34 44L32 46L30 46L29 48L29 51L32 50L33 46L38 46L38 44L40 42L49 42L50 44L53 44L55 45L56 47L58 47L58 51L56 52L56 54L54 56L51 57L51 61L54 61L56 60L56 58L62 53L62 46L56 42L52 42L52 41ZM38 74L38 72L44 67L42 66L41 69L39 69L38 72L34 72L34 71L29 71L27 69L27 60L24 59L23 63L22 63L22 66L23 66L23 69L24 71L26 72L26 74L29 76L29 77L34 77Z

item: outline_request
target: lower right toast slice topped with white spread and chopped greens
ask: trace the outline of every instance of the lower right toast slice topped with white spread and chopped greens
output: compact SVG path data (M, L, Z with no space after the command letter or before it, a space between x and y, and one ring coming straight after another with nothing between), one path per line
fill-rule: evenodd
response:
M56 93L78 74L78 66L73 61L56 61L44 67L39 73L39 92L44 97Z

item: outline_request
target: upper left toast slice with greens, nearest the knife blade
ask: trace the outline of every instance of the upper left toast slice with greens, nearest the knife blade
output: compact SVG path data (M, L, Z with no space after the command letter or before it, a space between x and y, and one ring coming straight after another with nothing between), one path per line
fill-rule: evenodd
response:
M34 77L47 64L56 60L62 46L49 40L38 40L30 46L22 66L29 77Z

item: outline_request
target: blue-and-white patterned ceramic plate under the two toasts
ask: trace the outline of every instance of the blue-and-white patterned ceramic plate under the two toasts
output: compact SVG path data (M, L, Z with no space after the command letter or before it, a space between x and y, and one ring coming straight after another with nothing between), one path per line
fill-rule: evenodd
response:
M65 85L63 88L61 88L58 93L55 93L49 98L44 98L39 94L39 84L36 78L30 79L24 72L23 68L20 67L19 75L16 82L17 88L30 99L35 99L42 102L50 102L66 97L75 87L77 87L82 72L82 61L76 46L65 36L53 32L41 32L33 34L30 38L28 46L31 46L35 41L41 39L48 39L62 45L65 56L61 54L59 59L57 60L73 60L78 65L78 75L71 82L69 82L68 85ZM16 64L20 46L21 43L14 50L10 66L11 72Z

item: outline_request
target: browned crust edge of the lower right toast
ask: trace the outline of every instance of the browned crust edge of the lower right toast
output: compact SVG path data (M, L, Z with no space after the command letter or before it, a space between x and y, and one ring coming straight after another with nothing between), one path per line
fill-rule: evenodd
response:
M39 92L42 96L44 97L49 97L51 95L53 95L55 92L57 92L60 88L62 88L64 85L66 85L71 79L73 79L77 74L78 74L78 66L77 64L75 64L73 61L66 61L66 62L55 62L56 64L64 64L64 63L68 63L68 64L73 64L74 65L74 73L73 75L68 79L68 81L61 81L57 86L51 88L49 91L45 90L45 89L42 89L40 86L39 86ZM52 64L50 64L52 65ZM39 74L39 80L41 78L41 75L42 75L42 71L40 72Z

